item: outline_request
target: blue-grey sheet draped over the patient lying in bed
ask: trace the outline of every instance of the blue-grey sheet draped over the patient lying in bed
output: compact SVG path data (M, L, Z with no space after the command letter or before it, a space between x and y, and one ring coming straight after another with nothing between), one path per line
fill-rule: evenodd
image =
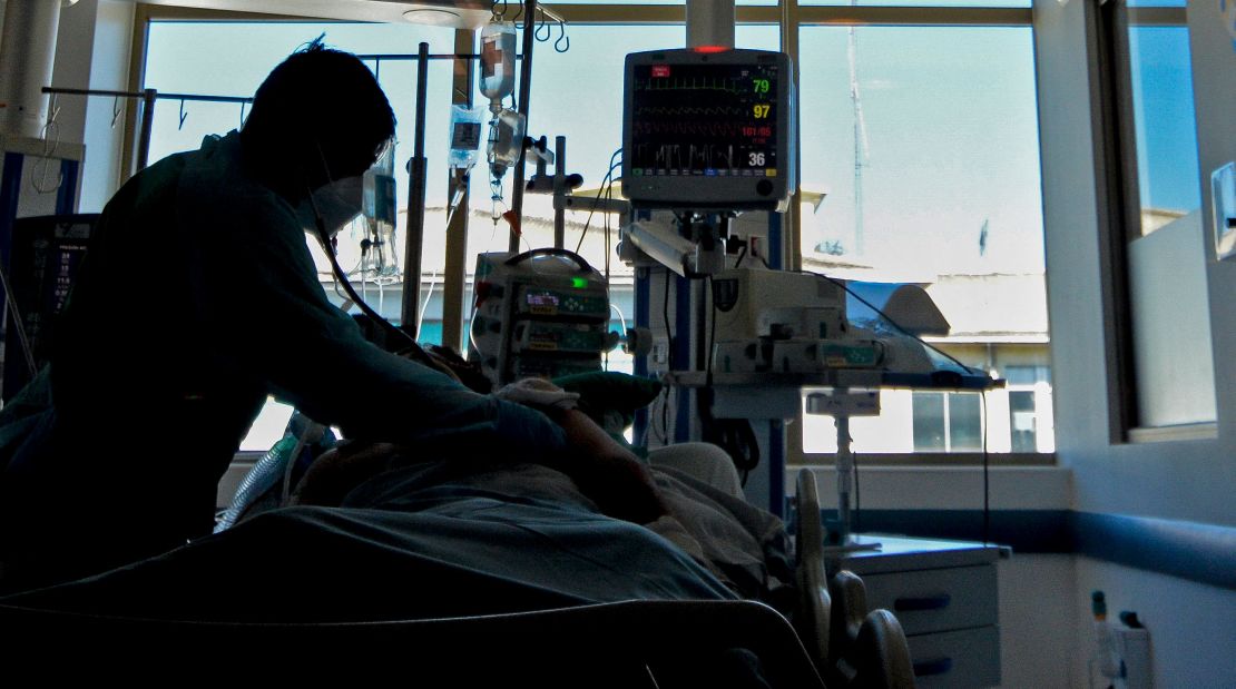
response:
M782 525L730 486L654 468L669 514L637 525L602 514L561 469L347 442L313 463L287 506L6 603L241 622L410 620L632 599L755 598L785 609L784 582L792 579Z

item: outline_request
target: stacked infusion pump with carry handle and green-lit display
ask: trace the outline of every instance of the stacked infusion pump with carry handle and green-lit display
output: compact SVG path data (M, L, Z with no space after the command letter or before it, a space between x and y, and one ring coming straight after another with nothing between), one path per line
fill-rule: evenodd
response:
M482 253L468 358L494 385L601 370L613 349L604 278L577 253Z

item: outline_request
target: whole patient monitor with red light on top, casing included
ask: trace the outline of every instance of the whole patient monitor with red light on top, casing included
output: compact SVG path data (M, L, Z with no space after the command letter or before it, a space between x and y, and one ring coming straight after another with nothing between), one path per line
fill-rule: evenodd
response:
M643 206L774 207L792 182L789 58L627 56L623 191Z

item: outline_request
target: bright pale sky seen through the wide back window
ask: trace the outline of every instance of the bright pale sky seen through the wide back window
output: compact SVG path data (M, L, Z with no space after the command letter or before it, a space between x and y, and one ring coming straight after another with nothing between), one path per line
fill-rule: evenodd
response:
M161 91L250 95L287 53L326 33L357 53L412 53L419 41L450 52L447 30L398 25L158 23L151 31L148 86ZM567 137L571 169L586 185L604 177L620 146L622 64L628 52L680 46L681 26L571 26L571 49L538 43L529 132ZM866 125L863 167L864 256L854 254L854 115L848 32L803 31L802 180L828 194L803 220L803 246L836 240L850 258L915 273L1042 270L1037 110L1028 28L865 27L855 32L859 98ZM737 44L775 49L772 26L742 26ZM227 46L226 51L218 49ZM586 67L586 68L585 68ZM410 154L415 69L383 62L378 77L399 117L400 159ZM449 64L430 70L429 198L445 196ZM480 101L478 101L480 102ZM161 101L152 156L195 148L201 136L240 123L240 107ZM398 188L405 190L400 174ZM485 188L473 199L487 204ZM508 191L509 194L509 191ZM986 257L980 228L989 223ZM499 241L501 243L501 241ZM499 247L494 247L499 248ZM912 258L910 265L907 258Z

